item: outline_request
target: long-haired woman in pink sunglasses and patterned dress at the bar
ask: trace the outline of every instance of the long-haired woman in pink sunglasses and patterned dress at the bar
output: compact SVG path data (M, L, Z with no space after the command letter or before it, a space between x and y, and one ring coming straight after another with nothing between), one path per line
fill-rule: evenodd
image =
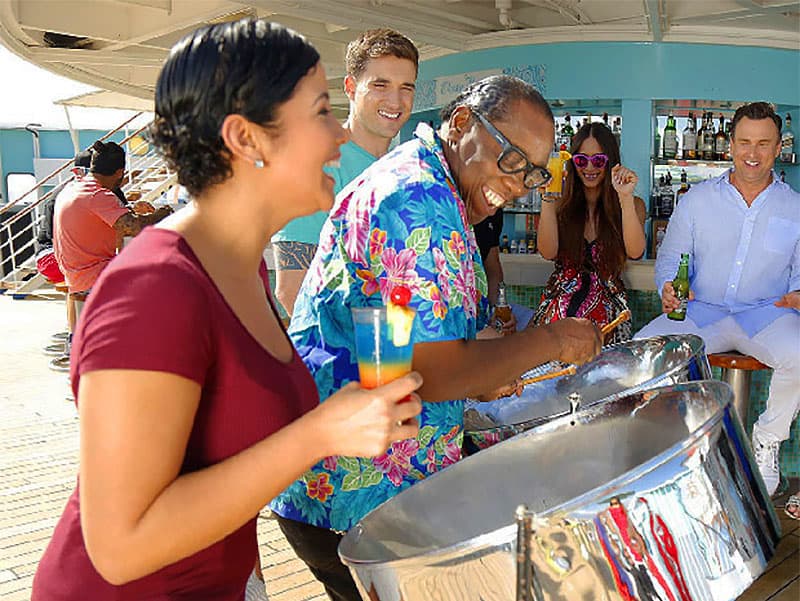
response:
M628 308L621 276L626 260L644 253L646 210L608 127L584 125L571 152L563 198L542 203L539 252L556 265L532 322L585 317L602 327ZM630 337L626 322L606 342Z

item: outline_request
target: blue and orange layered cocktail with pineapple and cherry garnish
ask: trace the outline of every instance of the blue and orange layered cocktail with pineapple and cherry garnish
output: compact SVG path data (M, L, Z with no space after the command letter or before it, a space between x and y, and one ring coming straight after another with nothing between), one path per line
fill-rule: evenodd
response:
M352 313L361 386L375 388L409 373L414 345L393 330L386 307L354 307ZM406 344L395 345L398 338Z

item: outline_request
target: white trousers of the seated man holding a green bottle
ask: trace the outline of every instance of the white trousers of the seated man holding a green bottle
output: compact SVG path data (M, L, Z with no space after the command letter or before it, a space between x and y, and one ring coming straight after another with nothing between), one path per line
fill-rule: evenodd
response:
M792 421L800 409L800 313L776 319L752 338L733 317L699 328L689 317L673 321L660 315L639 330L634 338L662 334L697 334L706 343L706 352L739 351L769 365L774 371L767 397L767 408L758 418L759 434L773 441L789 438Z

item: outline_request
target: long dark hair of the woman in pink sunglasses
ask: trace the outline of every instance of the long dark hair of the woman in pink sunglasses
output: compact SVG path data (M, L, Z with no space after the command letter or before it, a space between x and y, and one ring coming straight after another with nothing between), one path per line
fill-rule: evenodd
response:
M594 138L608 156L605 175L600 183L597 203L597 242L600 245L599 264L603 278L617 277L625 268L627 254L622 237L622 209L619 195L611 185L611 168L620 163L619 146L611 130L600 122L587 123L572 138L570 152L575 154L587 138ZM572 161L567 162L567 178L563 200L558 211L558 255L566 265L580 268L584 262L586 240L583 232L589 218L586 189Z

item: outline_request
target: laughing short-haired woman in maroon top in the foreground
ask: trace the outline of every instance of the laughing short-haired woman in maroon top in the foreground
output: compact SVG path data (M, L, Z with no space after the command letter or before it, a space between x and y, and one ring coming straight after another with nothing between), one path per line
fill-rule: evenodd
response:
M241 601L272 497L323 457L417 434L419 397L396 401L418 374L318 404L270 298L270 237L333 201L327 90L316 50L264 21L172 49L152 138L194 200L111 262L81 316L80 486L35 601Z

